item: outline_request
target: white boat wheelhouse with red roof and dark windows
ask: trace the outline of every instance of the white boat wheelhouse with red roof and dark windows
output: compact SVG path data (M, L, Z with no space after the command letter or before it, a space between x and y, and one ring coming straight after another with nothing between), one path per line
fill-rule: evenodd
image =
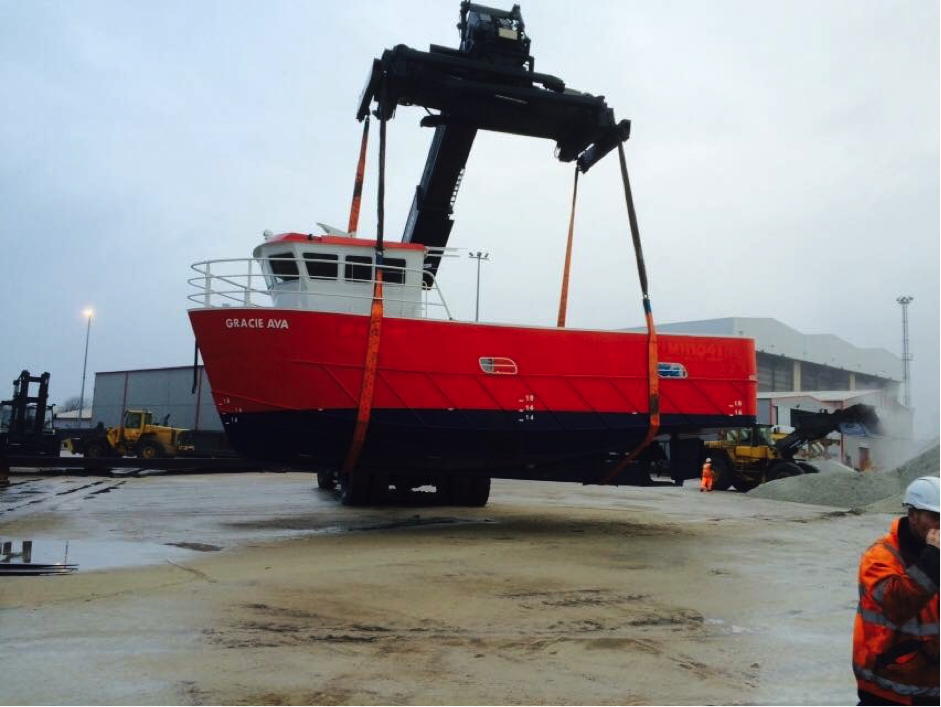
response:
M255 248L267 294L284 309L368 314L376 280L373 241L286 233ZM385 314L420 316L425 247L388 243L382 264Z

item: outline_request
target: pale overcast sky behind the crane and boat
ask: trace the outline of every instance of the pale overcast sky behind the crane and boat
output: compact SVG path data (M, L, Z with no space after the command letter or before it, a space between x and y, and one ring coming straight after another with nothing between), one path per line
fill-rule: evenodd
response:
M78 394L87 306L89 371L190 362L190 263L247 257L266 228L345 226L372 58L454 46L458 9L0 0L0 395L24 367L51 371L60 402ZM770 316L898 354L895 298L913 295L916 432L937 435L937 3L522 11L537 71L632 120L657 319ZM393 238L431 138L421 115L399 109L389 127ZM491 253L482 319L554 322L571 178L549 142L478 136L451 245ZM569 325L641 324L617 160L579 191ZM365 236L374 204L370 169ZM473 265L441 271L459 317L473 316Z

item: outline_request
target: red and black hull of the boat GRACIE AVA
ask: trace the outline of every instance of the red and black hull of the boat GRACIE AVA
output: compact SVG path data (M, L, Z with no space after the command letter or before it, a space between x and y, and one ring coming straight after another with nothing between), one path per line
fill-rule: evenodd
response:
M190 320L232 445L259 459L336 469L350 447L369 317L199 309ZM359 464L597 480L644 437L647 337L387 318ZM508 363L488 372L481 359ZM659 337L661 432L753 424L750 339ZM674 366L676 368L677 366Z

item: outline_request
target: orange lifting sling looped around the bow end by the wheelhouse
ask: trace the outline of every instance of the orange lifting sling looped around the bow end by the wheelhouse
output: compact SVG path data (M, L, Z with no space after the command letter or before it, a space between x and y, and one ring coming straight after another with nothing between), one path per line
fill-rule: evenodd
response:
M366 118L367 122L369 118ZM363 147L360 150L360 169L357 169L357 182L360 188L361 169L365 161L366 128L363 128ZM369 418L372 414L373 396L376 391L376 369L379 366L379 341L382 334L382 264L383 264L383 230L385 222L385 191L386 191L386 82L382 83L382 100L379 106L379 183L377 185L376 205L376 269L375 282L372 292L372 307L369 311L369 333L366 338L366 361L363 364L363 386L359 393L359 408L356 413L356 428L353 431L353 441L343 462L343 472L352 473L359 461L363 443L366 441L366 430L369 428ZM353 204L356 206L357 195L354 192ZM358 209L357 209L358 210ZM358 214L357 214L358 218ZM353 225L353 215L350 215Z

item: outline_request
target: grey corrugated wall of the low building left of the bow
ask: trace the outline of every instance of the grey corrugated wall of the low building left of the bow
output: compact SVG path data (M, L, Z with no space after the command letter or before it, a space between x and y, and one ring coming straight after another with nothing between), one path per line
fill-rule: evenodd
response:
M150 410L157 422L169 414L173 427L222 430L222 420L212 402L212 389L206 370L199 367L199 385L192 393L193 369L153 368L139 371L111 371L95 374L92 424L119 425L129 408Z

